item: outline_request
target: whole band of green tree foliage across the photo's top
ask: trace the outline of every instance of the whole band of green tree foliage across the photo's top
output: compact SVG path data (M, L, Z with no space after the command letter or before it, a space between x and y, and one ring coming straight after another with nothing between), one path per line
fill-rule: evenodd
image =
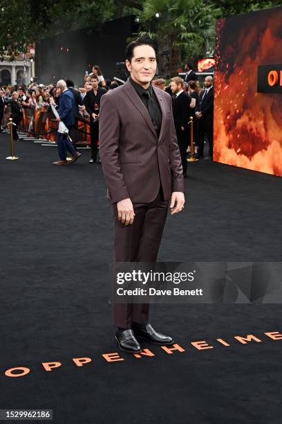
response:
M41 37L126 14L139 15L141 30L162 44L203 55L213 46L218 17L281 5L282 0L1 0L0 56L3 46L24 52Z

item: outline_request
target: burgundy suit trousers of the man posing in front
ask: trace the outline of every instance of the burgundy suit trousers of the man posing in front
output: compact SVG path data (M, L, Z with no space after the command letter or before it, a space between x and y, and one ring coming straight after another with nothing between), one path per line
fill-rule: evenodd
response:
M132 225L118 220L113 204L115 262L156 262L167 219L169 200L162 200L162 190L153 202L133 203ZM131 328L132 322L147 322L149 303L113 303L113 326Z

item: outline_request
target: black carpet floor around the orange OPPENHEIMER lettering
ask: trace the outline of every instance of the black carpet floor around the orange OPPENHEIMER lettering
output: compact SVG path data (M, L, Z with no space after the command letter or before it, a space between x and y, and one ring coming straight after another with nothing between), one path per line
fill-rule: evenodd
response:
M281 423L282 340L263 334L281 333L280 305L153 305L151 323L185 351L143 344L154 357L106 362L118 348L101 166L88 164L88 150L72 166L50 166L57 149L31 141L16 153L5 160L9 136L0 135L0 409L53 409L56 424ZM282 179L188 166L185 210L168 217L158 260L280 261ZM234 339L251 334L261 342ZM214 348L191 344L203 340ZM78 367L77 357L92 362ZM18 366L30 373L4 374Z

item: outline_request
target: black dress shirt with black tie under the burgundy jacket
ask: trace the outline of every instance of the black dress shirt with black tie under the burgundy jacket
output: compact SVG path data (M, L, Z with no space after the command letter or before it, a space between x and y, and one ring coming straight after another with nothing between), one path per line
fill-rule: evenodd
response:
M144 106L148 109L149 115L155 128L157 136L160 135L160 126L162 125L162 111L160 110L160 105L156 94L153 91L152 85L150 84L147 89L144 89L137 82L133 81L132 78L129 78L131 84L137 91L138 96L144 103Z

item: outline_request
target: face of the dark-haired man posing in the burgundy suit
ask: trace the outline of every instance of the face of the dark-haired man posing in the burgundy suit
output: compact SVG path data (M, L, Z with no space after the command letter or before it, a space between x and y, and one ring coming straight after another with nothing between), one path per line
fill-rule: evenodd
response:
M131 78L140 85L151 82L156 73L157 60L153 47L144 44L137 46L133 50L131 62L126 60L126 68L131 73Z

